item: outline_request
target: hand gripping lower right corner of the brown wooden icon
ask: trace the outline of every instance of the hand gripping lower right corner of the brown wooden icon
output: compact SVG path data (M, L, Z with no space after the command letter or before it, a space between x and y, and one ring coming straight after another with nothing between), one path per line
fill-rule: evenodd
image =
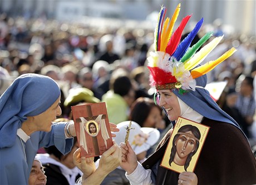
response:
M121 164L121 148L115 141L114 145L104 152L100 158L99 169L109 174Z

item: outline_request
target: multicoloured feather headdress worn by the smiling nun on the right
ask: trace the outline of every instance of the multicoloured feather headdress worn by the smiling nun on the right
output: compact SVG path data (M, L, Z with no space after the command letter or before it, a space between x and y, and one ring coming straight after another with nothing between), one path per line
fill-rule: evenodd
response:
M236 49L232 48L215 61L206 62L203 66L198 67L219 44L223 36L214 38L198 51L213 36L213 32L209 32L190 47L191 42L203 24L203 18L201 18L188 36L180 42L182 32L191 15L183 18L179 27L173 33L173 27L179 12L180 4L176 7L171 20L166 18L164 21L166 8L164 6L161 7L155 28L155 52L150 52L150 57L147 58L149 62L147 68L150 71L151 86L155 86L156 89L178 88L179 92L183 93L187 90L195 91L195 78L211 71L219 63L230 57Z

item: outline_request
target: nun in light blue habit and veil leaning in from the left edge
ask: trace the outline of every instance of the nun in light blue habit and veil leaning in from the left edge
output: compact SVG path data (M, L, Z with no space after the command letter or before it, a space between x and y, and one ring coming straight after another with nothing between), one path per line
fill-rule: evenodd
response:
M40 74L19 76L2 94L0 184L28 184L38 148L55 145L63 154L71 151L73 123L52 124L61 114L60 94L57 83Z

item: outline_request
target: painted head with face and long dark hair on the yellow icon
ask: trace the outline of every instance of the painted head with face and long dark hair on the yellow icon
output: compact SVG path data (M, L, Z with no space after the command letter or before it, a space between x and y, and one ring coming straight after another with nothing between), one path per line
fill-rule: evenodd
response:
M171 163L174 162L179 166L184 166L186 171L192 156L198 151L200 137L200 131L195 126L187 124L180 127L173 139L169 165L171 166Z

